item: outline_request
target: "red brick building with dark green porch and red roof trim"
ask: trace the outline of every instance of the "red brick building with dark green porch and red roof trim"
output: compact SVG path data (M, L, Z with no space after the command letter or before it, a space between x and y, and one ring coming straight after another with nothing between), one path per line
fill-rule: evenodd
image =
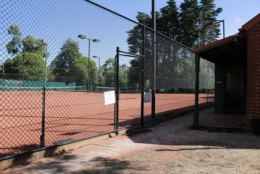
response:
M199 125L199 59L215 63L215 114L238 114L251 130L260 119L260 13L238 33L192 50L196 62L194 125ZM197 91L197 92L196 92Z

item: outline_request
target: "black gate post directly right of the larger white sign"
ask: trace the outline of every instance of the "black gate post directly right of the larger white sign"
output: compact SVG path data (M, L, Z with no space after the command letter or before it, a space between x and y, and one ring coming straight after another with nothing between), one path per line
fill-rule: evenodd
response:
M116 47L116 129L119 127L119 47ZM119 134L119 131L116 132L116 135Z

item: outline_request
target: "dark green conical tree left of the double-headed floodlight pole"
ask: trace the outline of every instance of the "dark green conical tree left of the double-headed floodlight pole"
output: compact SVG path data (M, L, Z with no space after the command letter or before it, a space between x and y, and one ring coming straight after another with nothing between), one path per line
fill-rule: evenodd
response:
M82 57L79 52L79 44L71 38L67 39L61 47L61 52L58 53L56 58L51 62L53 73L60 77L59 81L68 81L71 76L71 67L73 62ZM66 77L65 79L63 77Z

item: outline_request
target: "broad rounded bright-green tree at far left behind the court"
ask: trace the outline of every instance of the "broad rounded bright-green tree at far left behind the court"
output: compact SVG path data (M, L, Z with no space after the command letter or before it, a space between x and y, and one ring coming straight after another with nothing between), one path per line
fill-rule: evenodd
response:
M4 63L6 74L24 76L27 81L43 81L45 75L45 61L35 52L23 52L9 58Z

